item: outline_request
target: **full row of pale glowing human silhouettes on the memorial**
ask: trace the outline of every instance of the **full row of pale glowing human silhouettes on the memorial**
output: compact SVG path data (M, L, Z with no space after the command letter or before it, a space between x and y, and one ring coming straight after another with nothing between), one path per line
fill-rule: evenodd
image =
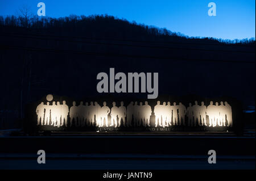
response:
M47 96L48 97L48 96ZM51 96L47 100L50 100ZM53 100L53 98L52 98ZM213 103L208 106L204 102L200 105L189 103L188 107L179 102L156 103L154 109L148 102L130 102L124 106L123 102L112 103L112 107L102 105L97 102L80 102L79 105L74 101L69 108L65 100L60 102L53 101L40 103L36 107L38 117L37 125L49 125L52 127L172 127L174 125L196 127L233 127L232 107L228 102ZM154 123L150 123L151 116L154 115ZM185 121L187 117L187 121ZM207 119L209 120L207 124ZM69 121L68 121L69 120ZM133 121L132 121L133 120ZM121 123L122 122L122 123ZM150 125L154 124L154 125Z

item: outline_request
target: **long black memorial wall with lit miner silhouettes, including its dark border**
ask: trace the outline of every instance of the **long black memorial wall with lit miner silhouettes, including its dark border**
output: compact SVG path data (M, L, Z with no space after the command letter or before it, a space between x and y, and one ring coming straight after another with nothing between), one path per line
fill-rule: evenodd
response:
M159 96L115 100L102 96L73 100L49 94L27 106L26 124L38 131L230 132L240 125L239 106L232 98Z

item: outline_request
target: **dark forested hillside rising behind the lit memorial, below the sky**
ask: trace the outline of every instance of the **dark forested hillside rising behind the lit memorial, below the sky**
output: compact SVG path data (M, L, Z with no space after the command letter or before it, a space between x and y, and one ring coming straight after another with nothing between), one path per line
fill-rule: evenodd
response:
M0 24L0 110L19 110L21 94L23 104L48 93L100 95L96 75L109 68L158 72L159 94L229 95L244 106L255 102L255 41L189 39L112 16L27 24L0 18Z

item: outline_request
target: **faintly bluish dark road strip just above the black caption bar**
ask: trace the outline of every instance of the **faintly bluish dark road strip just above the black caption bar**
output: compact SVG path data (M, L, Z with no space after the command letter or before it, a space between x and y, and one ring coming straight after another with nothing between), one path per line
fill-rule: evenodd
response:
M37 155L2 155L0 170L255 170L255 157L217 156L209 164L205 155L51 155L38 164Z

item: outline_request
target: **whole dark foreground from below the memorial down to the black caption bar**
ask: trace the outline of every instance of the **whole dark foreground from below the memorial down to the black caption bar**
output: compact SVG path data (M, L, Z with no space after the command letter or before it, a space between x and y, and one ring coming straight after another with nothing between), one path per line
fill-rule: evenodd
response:
M255 169L255 137L0 137L1 169ZM217 163L208 163L208 150ZM37 151L46 151L38 164Z

